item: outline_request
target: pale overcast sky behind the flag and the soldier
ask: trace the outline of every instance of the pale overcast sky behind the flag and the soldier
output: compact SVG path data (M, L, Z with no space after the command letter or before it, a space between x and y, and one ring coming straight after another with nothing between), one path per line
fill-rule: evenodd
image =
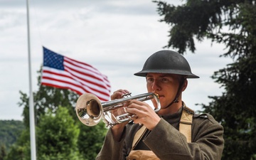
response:
M111 92L122 88L138 95L146 92L146 84L133 74L169 41L170 28L159 22L151 1L31 0L29 11L33 92L38 91L42 46L94 66L108 76ZM26 15L26 1L0 0L0 119L23 119L18 102L19 90L29 92ZM183 100L193 110L201 110L196 103L208 104L209 95L223 92L210 76L231 60L219 58L224 46L211 46L210 41L196 43L196 49L184 56L201 78L188 80Z

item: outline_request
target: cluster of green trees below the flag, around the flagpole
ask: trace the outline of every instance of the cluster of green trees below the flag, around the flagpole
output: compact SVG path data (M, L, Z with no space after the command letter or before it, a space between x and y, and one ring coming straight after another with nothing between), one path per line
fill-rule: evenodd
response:
M39 76L39 90L33 93L38 159L95 159L107 132L105 124L100 123L95 127L82 124L75 113L79 95L70 90L40 85L40 80ZM28 95L20 93L21 102L18 105L24 108L23 122L26 129L11 147L5 160L27 160L31 156Z

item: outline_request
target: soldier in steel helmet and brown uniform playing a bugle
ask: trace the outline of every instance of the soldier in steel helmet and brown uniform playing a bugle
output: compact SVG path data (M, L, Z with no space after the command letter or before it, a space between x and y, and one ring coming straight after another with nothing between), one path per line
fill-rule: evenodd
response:
M118 112L135 114L132 122L110 128L96 159L221 159L223 127L210 114L194 114L182 101L191 73L185 58L171 50L152 54L134 75L146 78L148 92L159 95L161 110L146 102L131 100ZM128 90L117 90L111 99ZM154 107L156 101L152 100Z

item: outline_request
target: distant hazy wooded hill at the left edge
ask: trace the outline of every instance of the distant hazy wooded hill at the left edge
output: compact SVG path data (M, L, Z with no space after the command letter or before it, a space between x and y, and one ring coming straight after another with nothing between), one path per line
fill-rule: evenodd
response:
M0 146L5 146L6 151L16 142L21 132L25 129L22 121L0 120Z

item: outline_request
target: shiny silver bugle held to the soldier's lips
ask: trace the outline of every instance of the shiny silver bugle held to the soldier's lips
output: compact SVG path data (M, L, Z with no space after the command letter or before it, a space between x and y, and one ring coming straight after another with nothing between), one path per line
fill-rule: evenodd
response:
M119 107L124 107L124 104L129 100L146 101L153 98L156 100L157 105L154 112L159 112L161 109L159 95L153 92L130 97L126 96L121 99L110 100L107 102L100 102L100 99L96 95L85 93L78 98L75 111L80 122L87 126L95 126L102 119L107 127L113 127L116 124L131 121L132 117L136 117L137 115L125 113L114 116L114 114L111 113L112 110L116 110Z

